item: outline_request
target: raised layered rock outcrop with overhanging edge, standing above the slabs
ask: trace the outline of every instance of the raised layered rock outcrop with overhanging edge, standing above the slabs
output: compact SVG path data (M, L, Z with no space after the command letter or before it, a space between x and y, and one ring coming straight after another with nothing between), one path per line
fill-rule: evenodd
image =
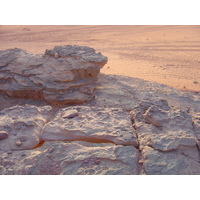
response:
M56 46L45 54L0 51L0 91L51 104L83 103L94 95L107 57L86 46Z

